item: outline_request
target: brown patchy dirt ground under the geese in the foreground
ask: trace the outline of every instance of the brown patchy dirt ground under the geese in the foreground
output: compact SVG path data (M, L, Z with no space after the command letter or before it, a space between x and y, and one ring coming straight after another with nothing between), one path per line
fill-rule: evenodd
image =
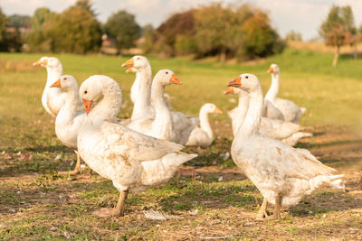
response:
M362 240L362 136L333 126L315 126L312 132L314 137L303 140L298 147L308 148L320 161L345 173L347 191L319 190L296 207L283 209L280 220L270 221L255 218L262 196L225 156L231 140L223 136L211 148L189 148L188 152L197 152L200 158L183 166L167 185L130 195L122 218L93 215L95 210L110 208L117 201L117 190L110 181L96 174L90 177L88 169L74 178L14 171L22 169L16 166L17 159L35 162L35 153L3 152L0 237ZM146 218L150 210L166 220Z

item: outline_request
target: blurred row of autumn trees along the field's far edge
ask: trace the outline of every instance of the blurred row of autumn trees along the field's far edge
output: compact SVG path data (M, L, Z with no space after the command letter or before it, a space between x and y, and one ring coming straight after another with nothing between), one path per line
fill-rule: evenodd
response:
M334 66L340 47L357 46L361 33L362 26L359 29L355 26L350 6L330 8L319 35L326 44L336 46ZM171 15L157 29L152 25L139 26L135 16L125 10L100 23L90 0L78 0L62 13L38 8L31 17L17 14L8 17L0 8L0 51L98 52L105 34L114 42L118 54L134 47L142 36L138 47L146 53L165 57L217 56L221 61L266 57L282 51L285 45L285 40L271 26L269 15L248 4L202 5ZM301 40L301 35L290 32L286 40Z

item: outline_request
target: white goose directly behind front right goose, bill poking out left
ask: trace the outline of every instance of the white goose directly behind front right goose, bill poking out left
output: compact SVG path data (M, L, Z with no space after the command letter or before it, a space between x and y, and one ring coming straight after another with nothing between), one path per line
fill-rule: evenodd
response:
M233 87L228 88L224 94L239 95L238 107L228 112L232 119L233 135L235 136L246 116L249 106L249 95L243 89ZM297 144L300 138L312 136L310 133L300 132L302 129L303 127L295 123L262 117L259 131L264 136L280 140L284 144L292 146Z

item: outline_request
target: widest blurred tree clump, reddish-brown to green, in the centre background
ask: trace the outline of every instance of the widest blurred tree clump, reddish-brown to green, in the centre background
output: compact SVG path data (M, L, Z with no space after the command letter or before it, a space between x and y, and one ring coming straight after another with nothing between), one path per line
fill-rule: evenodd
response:
M173 14L147 40L152 51L167 57L194 53L221 61L264 57L283 47L268 15L246 4L216 3Z

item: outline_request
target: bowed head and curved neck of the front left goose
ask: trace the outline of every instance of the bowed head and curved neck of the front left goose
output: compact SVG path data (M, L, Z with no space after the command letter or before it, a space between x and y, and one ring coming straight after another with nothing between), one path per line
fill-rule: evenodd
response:
M108 76L93 75L84 80L79 91L80 97L87 115L90 113L93 103L100 102L101 99L108 97L111 101L109 108L115 108L119 112L122 102L122 92L119 84Z

